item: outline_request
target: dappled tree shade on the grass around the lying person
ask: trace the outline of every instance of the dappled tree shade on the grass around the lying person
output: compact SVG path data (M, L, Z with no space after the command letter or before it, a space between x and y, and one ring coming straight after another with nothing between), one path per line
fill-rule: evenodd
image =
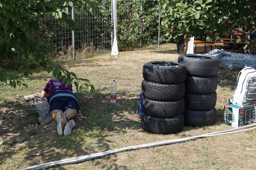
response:
M119 91L120 96L125 94L126 91ZM24 164L33 166L39 162L58 161L120 148L123 146L106 137L113 133L126 133L126 129L141 129L140 120L133 111L134 101L118 99L116 103L111 103L109 94L99 91L95 91L93 96L84 91L76 95L85 120L76 122L73 132L68 136L59 136L56 129L44 129L40 125L35 129L34 125L38 123L37 113L31 111L27 104L2 104L7 111L1 112L0 116L12 111L19 120L13 121L14 117L8 117L1 121L0 139L3 143L0 146L0 166L15 157L22 159L19 163L23 162L17 163L16 168L24 168Z

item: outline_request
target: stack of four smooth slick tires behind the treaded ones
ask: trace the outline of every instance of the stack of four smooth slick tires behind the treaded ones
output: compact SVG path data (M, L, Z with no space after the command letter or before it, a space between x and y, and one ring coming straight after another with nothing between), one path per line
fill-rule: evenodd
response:
M187 67L184 125L207 126L216 120L219 59L215 56L184 54L178 62Z

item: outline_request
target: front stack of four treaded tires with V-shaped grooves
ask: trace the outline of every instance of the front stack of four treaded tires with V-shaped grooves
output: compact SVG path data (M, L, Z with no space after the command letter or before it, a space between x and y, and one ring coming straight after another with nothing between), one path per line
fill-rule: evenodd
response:
M184 126L185 64L153 61L143 65L142 128L150 133L177 133Z

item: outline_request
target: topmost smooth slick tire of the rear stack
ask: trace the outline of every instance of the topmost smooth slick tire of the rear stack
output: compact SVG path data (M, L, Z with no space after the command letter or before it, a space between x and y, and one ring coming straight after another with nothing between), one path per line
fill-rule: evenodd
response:
M187 74L194 76L214 76L218 74L220 60L215 56L183 54L178 62L187 67Z

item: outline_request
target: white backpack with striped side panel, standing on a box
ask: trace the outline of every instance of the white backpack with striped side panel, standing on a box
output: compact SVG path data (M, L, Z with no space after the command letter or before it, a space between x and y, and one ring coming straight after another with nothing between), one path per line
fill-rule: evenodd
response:
M256 106L256 70L245 67L237 76L232 104L240 107Z

